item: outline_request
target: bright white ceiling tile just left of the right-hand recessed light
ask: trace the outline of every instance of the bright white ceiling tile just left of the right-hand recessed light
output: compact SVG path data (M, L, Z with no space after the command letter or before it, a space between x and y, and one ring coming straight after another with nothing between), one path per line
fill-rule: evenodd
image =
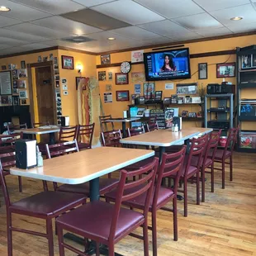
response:
M215 18L211 17L211 15L207 13L181 17L174 19L174 21L180 24L181 26L185 26L188 29L191 29L192 31L203 28L211 29L222 26L219 21L216 21Z

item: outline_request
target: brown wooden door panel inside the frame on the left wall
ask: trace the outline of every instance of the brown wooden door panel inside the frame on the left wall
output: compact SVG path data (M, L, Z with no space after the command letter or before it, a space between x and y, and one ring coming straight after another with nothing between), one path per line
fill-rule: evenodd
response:
M53 97L53 81L51 67L36 68L36 97L39 122L55 124Z

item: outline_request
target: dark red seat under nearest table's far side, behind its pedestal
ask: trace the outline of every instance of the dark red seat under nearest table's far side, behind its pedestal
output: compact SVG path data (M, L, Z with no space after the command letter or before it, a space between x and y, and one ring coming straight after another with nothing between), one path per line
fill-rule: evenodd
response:
M100 178L100 195L110 192L118 184L119 180L116 178ZM83 195L90 194L90 183L82 183L76 185L64 184L57 188L61 192L73 192Z

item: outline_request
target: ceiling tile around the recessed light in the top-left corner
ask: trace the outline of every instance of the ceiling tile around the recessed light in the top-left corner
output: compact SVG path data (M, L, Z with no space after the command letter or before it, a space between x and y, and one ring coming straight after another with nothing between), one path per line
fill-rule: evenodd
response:
M50 13L40 12L31 7L26 7L22 4L18 4L17 2L11 2L8 0L1 0L1 5L11 9L11 12L2 12L2 16L16 18L21 21L32 21L51 16Z

